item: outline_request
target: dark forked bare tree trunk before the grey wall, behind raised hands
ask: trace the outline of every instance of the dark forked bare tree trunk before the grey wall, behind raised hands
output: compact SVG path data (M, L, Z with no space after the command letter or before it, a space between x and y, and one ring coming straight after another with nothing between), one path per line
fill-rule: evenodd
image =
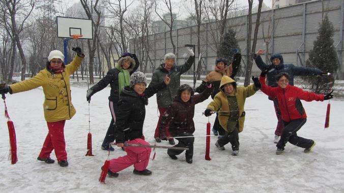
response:
M259 0L258 11L257 11L254 33L253 33L253 43L252 43L252 49L251 49L253 0L248 0L248 15L247 15L247 19L248 19L247 27L248 28L247 28L247 33L246 33L246 35L247 35L246 36L247 66L246 66L246 72L245 72L244 86L248 86L250 84L250 81L251 81L251 71L252 71L252 63L253 63L252 52L255 51L255 46L257 44L257 34L258 34L258 29L259 29L259 24L260 24L260 19L261 19L262 4L263 4L263 0Z

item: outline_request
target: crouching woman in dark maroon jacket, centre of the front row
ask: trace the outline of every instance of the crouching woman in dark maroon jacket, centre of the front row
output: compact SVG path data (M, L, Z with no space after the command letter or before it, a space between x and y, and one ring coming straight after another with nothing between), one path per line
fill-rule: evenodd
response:
M212 93L213 88L209 83L207 89L200 94L194 94L193 89L188 84L183 84L179 87L177 95L173 103L168 107L166 112L162 115L161 124L159 127L162 139L170 139L176 137L178 144L174 147L187 147L189 150L185 151L186 162L192 163L193 156L193 132L195 125L193 122L193 115L195 112L195 105L207 100ZM172 136L166 136L165 129L168 128ZM182 138L178 138L182 137ZM184 150L168 149L167 154L172 159L177 159Z

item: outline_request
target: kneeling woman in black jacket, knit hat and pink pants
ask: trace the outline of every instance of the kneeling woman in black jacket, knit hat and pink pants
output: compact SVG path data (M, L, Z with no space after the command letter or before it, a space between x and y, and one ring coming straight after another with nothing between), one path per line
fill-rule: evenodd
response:
M123 147L124 142L132 144L150 145L144 140L142 129L146 116L145 105L148 98L169 83L166 76L164 83L150 84L147 89L147 79L144 73L134 72L130 76L130 86L125 86L118 102L118 116L116 120L115 138L118 147ZM127 155L110 159L108 174L118 176L117 172L134 165L134 174L151 175L147 170L151 148L126 146ZM113 175L114 174L114 175Z

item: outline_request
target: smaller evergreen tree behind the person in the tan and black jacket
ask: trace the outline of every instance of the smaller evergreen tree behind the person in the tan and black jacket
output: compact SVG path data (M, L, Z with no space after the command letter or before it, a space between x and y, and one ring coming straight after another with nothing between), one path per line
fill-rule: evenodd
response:
M226 58L228 65L232 62L234 52L232 49L239 49L238 41L235 38L235 31L233 29L228 29L224 34L223 41L221 42L220 49L218 51L217 57Z

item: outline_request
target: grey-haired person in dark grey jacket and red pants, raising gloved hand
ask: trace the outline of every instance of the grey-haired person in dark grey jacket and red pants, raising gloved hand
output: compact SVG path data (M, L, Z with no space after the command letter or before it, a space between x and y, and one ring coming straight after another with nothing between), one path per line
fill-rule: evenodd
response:
M176 55L173 53L167 53L165 54L165 62L162 63L153 73L152 76L152 82L151 84L157 84L159 82L163 82L165 76L168 76L170 78L170 83L167 85L164 89L159 90L156 94L156 99L158 103L158 109L159 109L159 120L157 127L155 129L154 138L156 142L160 143L160 135L159 135L159 125L161 121L161 117L164 114L164 112L167 110L168 106L172 103L173 99L175 98L175 95L177 94L178 87L180 86L180 76L188 71L194 61L194 53L192 49L189 49L189 58L185 62L184 65L181 66L175 66L176 61ZM173 139L169 140L169 143L171 145L174 145L175 142Z

